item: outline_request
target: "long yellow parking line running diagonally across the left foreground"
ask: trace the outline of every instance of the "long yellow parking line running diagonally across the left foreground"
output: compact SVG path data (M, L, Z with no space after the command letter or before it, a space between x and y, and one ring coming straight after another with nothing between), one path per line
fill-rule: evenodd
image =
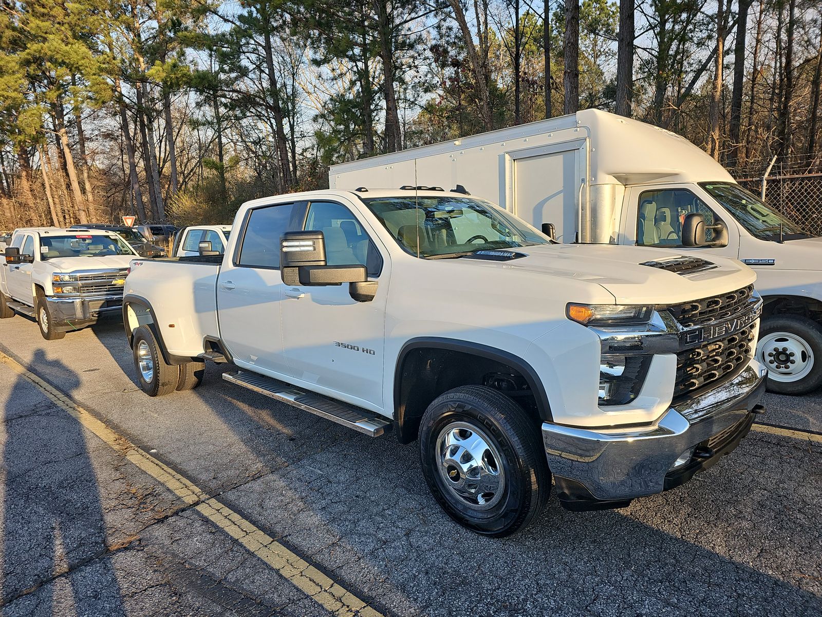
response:
M71 398L60 392L56 387L44 382L35 373L25 369L22 364L2 351L0 351L0 362L6 364L22 378L33 383L40 391L44 392L45 396L54 405L72 415L86 429L97 435L104 443L109 444L111 448L117 450L128 461L140 467L149 476L158 480L182 501L194 506L197 512L233 537L234 540L238 540L249 552L262 559L271 568L274 568L286 580L307 596L310 596L324 609L334 615L382 617L381 613L367 605L351 591L334 582L326 574L321 573L320 570L302 559L298 554L293 553L252 522L247 521L224 503L221 503L219 499L206 494L191 480L159 462L148 452L137 448L127 438L115 433L108 425L85 411L81 406L76 405Z

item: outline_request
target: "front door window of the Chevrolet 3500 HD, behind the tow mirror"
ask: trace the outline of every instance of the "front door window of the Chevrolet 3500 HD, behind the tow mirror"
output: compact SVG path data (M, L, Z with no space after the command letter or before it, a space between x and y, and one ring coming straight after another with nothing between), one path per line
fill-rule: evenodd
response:
M352 212L335 202L311 202L306 230L321 231L326 237L326 263L329 266L360 264L370 276L378 276L382 257Z

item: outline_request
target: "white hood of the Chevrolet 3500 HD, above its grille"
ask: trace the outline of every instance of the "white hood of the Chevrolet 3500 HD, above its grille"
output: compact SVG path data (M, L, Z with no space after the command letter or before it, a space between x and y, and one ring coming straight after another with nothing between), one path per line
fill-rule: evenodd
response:
M676 248L628 247L614 244L546 244L515 249L526 257L509 262L460 258L459 262L512 268L602 285L617 304L674 304L738 290L756 279L749 267L727 257L700 255L716 265L704 271L663 270L648 262L697 257Z

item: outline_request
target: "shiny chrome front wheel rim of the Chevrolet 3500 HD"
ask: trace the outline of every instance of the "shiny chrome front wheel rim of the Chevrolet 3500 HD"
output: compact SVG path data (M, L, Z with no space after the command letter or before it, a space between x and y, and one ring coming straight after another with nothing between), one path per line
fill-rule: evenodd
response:
M496 445L480 429L452 422L436 438L436 463L450 494L476 510L502 499L506 474Z

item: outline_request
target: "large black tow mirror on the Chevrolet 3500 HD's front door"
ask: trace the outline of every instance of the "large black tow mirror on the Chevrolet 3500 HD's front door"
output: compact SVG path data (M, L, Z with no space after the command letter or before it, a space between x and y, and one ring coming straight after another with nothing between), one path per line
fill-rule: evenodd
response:
M365 266L329 266L326 263L326 237L321 231L289 231L279 241L279 267L286 285L342 285L358 302L373 299ZM376 290L373 290L376 293ZM370 297L369 297L370 296Z

